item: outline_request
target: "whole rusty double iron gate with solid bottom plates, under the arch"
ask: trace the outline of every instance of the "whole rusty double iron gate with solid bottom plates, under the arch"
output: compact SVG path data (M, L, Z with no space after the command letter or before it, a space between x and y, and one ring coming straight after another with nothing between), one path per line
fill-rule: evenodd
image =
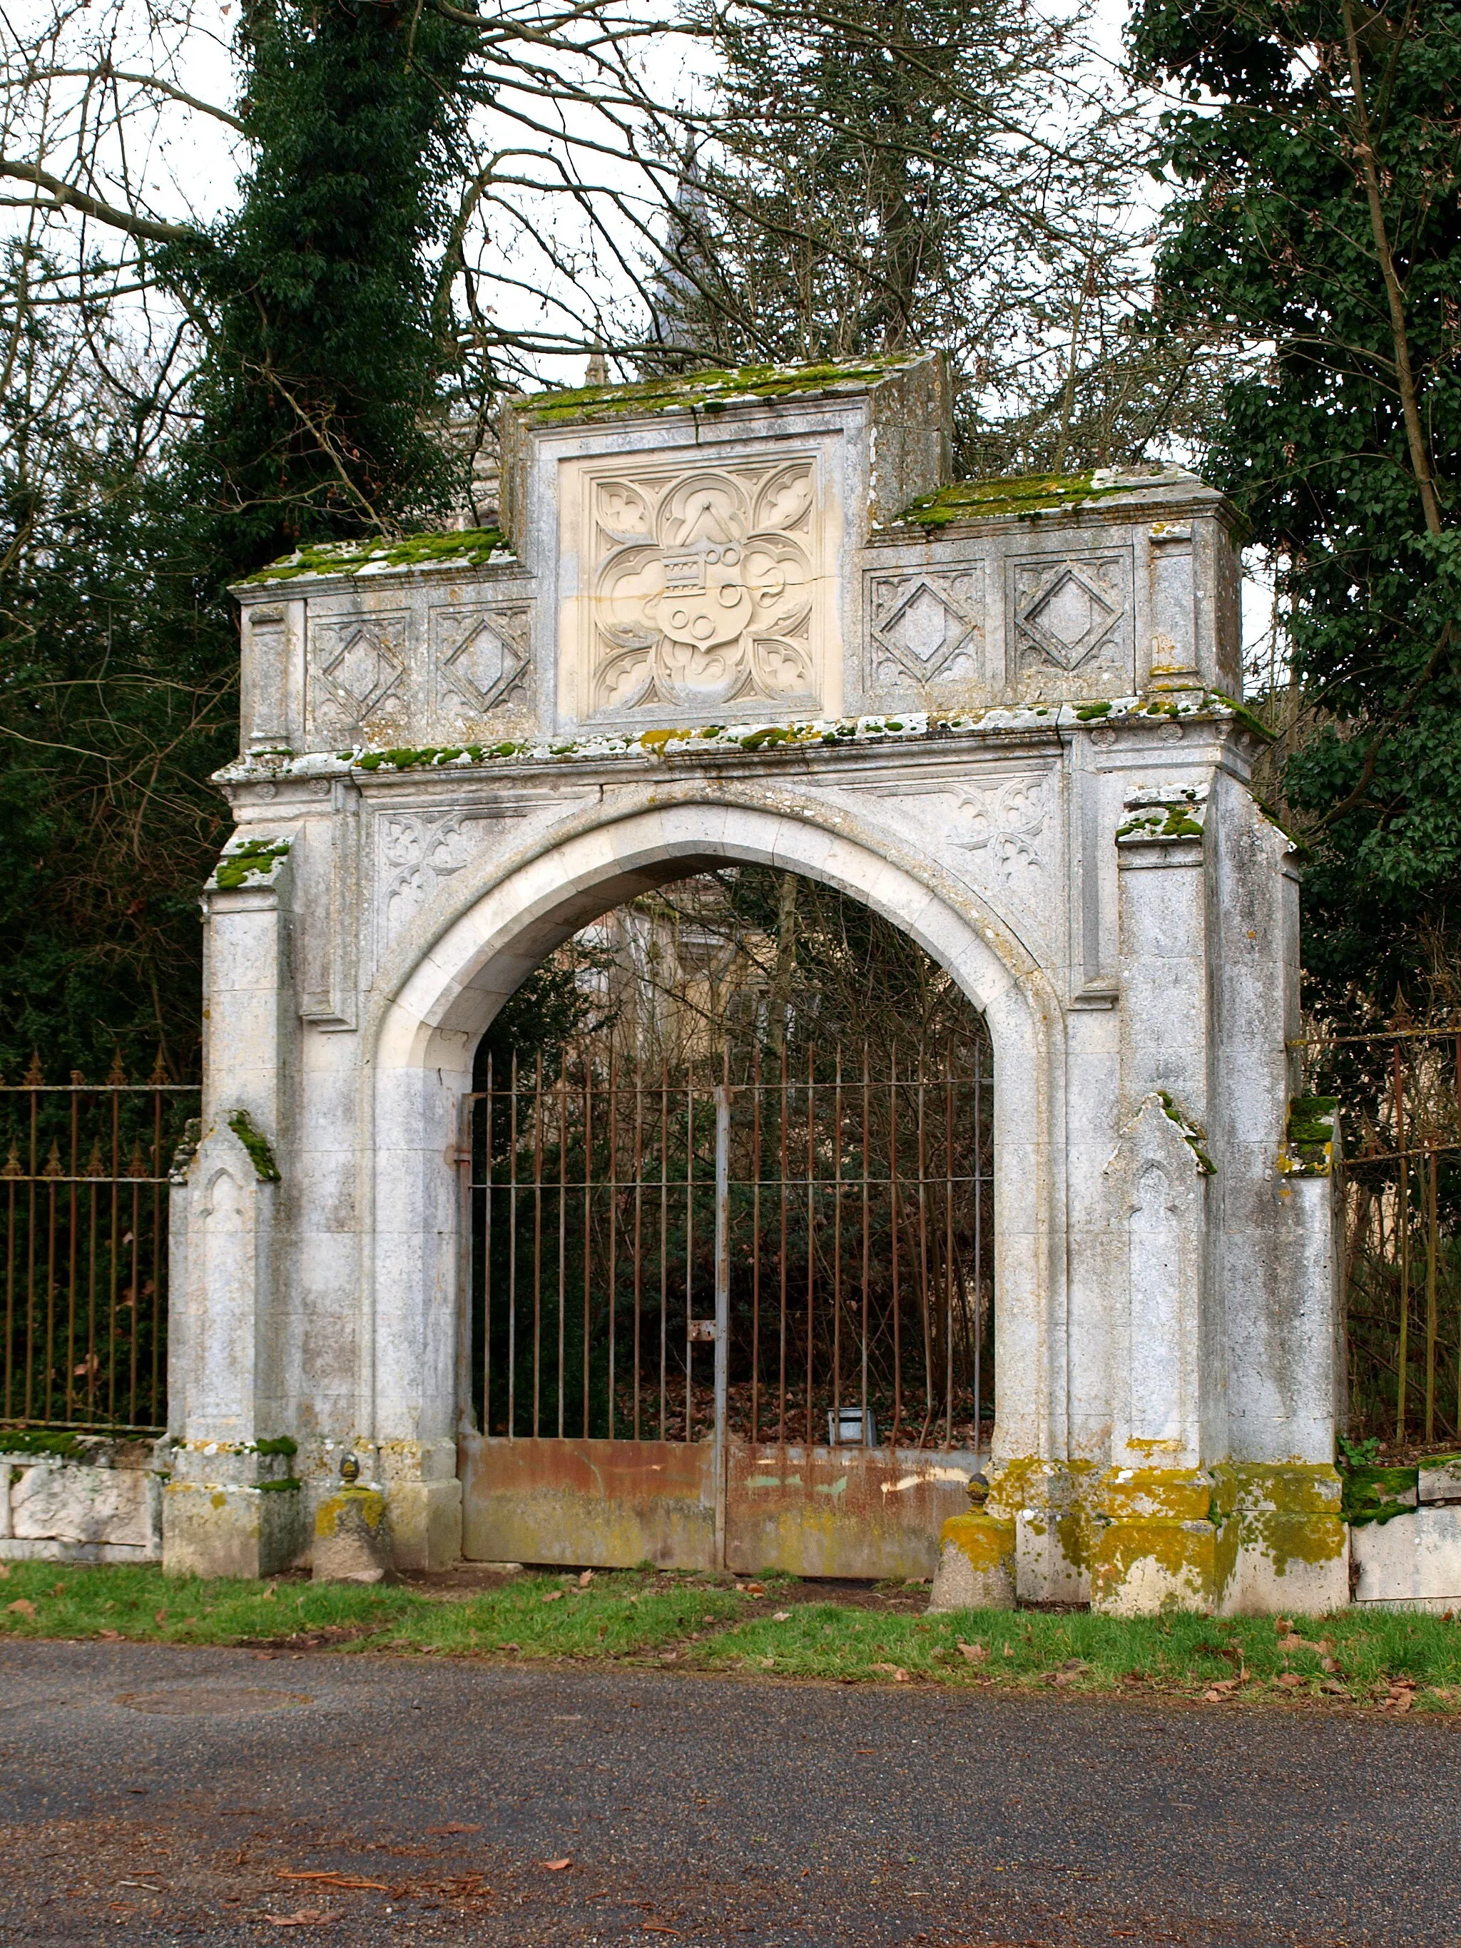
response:
M992 1373L988 1050L606 1044L466 1105L466 1551L927 1574Z

